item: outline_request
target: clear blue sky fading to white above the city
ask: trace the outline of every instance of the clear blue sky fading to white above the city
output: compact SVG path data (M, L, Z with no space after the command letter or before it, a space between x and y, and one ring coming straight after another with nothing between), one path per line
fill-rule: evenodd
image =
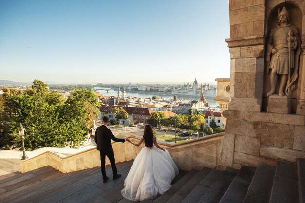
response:
M228 0L0 0L0 79L229 77Z

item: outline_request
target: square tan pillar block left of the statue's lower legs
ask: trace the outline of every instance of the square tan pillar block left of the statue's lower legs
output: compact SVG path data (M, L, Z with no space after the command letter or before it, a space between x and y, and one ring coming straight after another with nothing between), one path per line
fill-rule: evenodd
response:
M235 67L234 97L261 98L262 94L263 72L236 72Z

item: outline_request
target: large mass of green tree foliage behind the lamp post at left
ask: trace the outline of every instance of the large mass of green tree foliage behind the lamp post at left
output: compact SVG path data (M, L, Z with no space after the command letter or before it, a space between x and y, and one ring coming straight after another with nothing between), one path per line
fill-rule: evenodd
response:
M65 100L61 94L49 91L42 81L35 80L25 92L3 92L0 148L10 148L19 140L19 123L25 127L26 150L63 147L67 142L73 143L71 147L77 147L85 140L98 115L96 96L88 90L75 90Z

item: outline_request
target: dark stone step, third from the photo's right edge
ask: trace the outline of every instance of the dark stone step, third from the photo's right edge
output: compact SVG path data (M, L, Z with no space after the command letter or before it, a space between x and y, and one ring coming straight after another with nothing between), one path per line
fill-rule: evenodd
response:
M243 203L269 203L276 166L259 164Z

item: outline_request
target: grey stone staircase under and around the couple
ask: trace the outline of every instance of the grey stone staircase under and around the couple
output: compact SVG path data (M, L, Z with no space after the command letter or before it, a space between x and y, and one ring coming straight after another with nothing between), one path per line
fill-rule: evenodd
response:
M133 161L117 164L122 178L103 183L100 168L61 173L46 166L0 180L1 203L132 203L121 196ZM107 173L111 167L106 166ZM305 159L225 171L180 171L163 195L142 203L305 203Z

